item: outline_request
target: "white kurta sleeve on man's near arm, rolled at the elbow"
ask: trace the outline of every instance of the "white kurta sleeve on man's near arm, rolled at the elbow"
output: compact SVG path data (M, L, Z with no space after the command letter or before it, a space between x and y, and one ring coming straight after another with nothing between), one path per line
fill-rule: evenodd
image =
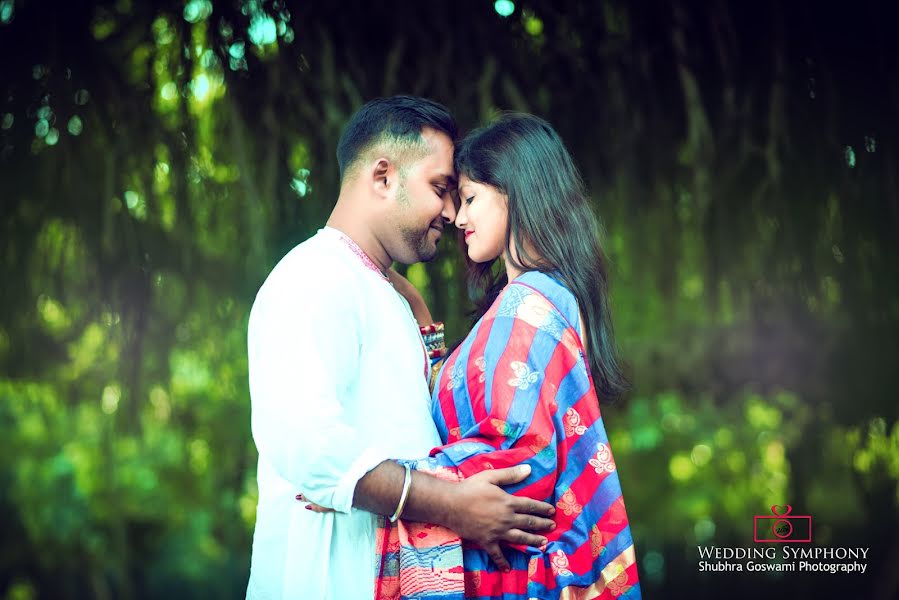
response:
M359 372L357 295L320 280L314 293L260 292L248 333L253 439L277 473L316 504L349 512L358 480L383 460L341 401Z

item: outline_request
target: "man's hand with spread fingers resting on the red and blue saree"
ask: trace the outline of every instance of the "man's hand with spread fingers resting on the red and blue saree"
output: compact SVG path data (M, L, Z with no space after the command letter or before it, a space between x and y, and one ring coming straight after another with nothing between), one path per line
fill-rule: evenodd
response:
M447 526L480 544L503 571L510 567L500 542L539 547L546 538L538 532L556 526L549 518L556 512L551 504L513 496L499 487L523 481L530 473L528 465L482 471L456 484L451 495Z

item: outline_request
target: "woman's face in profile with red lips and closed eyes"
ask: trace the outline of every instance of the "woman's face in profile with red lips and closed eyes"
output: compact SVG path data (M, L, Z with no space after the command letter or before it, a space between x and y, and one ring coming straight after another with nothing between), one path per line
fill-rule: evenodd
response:
M508 199L495 187L459 178L459 211L456 227L465 231L468 258L488 262L506 250L506 226L509 222Z

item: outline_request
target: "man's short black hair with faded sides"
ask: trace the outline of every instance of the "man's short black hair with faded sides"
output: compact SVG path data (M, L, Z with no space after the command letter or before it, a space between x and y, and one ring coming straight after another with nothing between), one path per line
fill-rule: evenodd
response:
M359 159L375 147L384 146L383 150L398 162L403 162L411 150L426 154L421 137L425 127L445 133L450 140L456 139L456 122L445 106L433 100L392 96L366 103L346 124L337 142L341 183Z

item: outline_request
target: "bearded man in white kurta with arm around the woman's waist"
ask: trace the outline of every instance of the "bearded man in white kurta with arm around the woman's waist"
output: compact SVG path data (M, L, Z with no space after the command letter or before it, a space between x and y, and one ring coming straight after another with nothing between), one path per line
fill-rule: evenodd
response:
M372 598L376 515L439 523L490 549L542 545L552 507L503 492L527 471L448 483L389 459L440 444L428 360L393 261L432 259L455 218L455 124L398 96L366 104L337 149L341 189L328 226L290 251L249 325L259 504L248 598ZM299 493L334 509L304 509Z

